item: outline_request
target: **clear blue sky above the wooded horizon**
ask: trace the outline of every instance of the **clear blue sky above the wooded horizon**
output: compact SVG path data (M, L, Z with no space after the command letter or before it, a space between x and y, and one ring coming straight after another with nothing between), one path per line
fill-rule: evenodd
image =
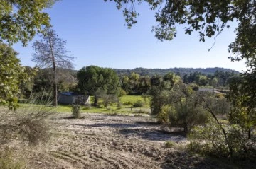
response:
M46 10L58 36L67 40L67 49L75 57L75 69L97 65L118 69L171 67L225 67L241 71L244 62L230 62L228 45L235 40L235 23L217 38L199 42L197 33L185 35L178 27L174 40L160 42L151 32L156 25L149 6L137 6L140 16L132 29L124 26L122 11L113 2L103 0L62 0ZM35 37L35 40L38 37ZM34 40L33 40L34 41ZM27 47L14 45L23 65L34 66L32 42Z

